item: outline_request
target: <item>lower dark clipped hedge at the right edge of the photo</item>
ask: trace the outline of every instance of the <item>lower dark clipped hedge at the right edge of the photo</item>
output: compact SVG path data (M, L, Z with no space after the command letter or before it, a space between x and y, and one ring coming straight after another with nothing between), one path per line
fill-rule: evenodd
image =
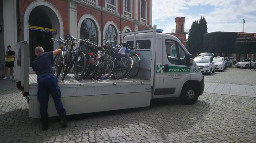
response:
M256 41L235 42L235 52L240 54L256 53Z

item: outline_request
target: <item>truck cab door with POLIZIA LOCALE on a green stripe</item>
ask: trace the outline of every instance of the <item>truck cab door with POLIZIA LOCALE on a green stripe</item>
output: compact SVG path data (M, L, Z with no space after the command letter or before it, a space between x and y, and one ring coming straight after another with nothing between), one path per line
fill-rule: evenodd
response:
M165 43L165 44L164 44ZM178 96L183 83L190 79L186 52L176 39L163 37L163 66L165 96Z

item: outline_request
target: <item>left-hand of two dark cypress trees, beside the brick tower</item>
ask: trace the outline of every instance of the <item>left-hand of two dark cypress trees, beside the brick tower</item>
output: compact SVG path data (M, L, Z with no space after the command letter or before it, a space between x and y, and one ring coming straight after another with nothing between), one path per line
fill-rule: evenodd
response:
M200 50L200 29L198 21L193 21L188 35L187 49L193 56L199 54Z

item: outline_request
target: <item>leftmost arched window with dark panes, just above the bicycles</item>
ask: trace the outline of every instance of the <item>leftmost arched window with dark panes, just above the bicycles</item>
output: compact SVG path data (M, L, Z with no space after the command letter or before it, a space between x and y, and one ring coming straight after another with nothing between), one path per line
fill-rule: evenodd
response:
M90 39L90 36L93 34L95 36L91 38L91 41L98 43L97 27L96 27L95 23L90 18L86 18L82 22L82 25L81 25L80 38L81 39Z

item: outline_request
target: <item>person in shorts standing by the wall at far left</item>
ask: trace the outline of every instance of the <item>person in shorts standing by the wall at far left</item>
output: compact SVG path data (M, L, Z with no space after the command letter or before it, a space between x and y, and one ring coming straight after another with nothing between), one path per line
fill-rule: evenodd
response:
M8 45L7 46L7 51L5 52L5 57L6 57L6 61L5 61L5 72L4 72L4 80L7 79L7 72L8 72L8 68L10 68L10 79L12 79L12 74L13 74L13 67L14 67L14 55L15 52L11 50L11 46Z

